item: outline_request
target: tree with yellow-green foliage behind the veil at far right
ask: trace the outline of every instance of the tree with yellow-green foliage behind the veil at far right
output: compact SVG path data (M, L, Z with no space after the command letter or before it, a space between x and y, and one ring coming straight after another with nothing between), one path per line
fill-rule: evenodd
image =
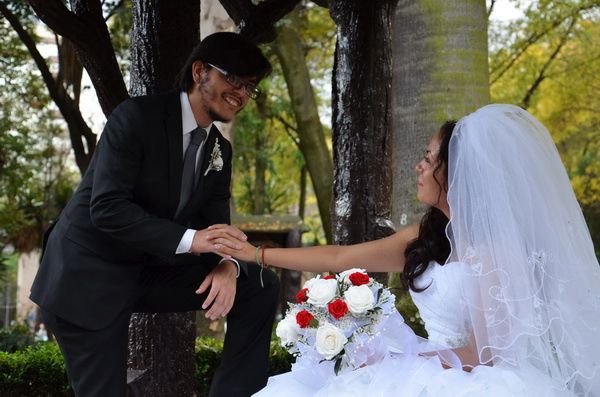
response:
M600 1L538 1L490 27L494 102L520 104L550 130L600 256Z

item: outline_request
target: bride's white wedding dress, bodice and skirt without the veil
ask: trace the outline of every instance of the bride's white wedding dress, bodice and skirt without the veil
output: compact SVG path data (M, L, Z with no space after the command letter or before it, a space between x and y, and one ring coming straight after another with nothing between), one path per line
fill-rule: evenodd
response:
M420 293L411 291L425 321L427 341L416 337L396 313L378 336L380 348L387 349L381 361L335 375L332 362L306 362L300 357L291 372L271 377L255 396L571 396L560 392L558 385L533 367L515 370L479 365L466 372L443 368L438 356L418 354L469 343L472 330L463 292L472 287L470 274L468 266L460 262L444 266L432 263L417 280L419 287L429 286Z

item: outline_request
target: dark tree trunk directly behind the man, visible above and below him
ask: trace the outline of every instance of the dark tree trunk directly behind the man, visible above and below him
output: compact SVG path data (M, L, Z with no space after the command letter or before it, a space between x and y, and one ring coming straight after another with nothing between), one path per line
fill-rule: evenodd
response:
M131 34L131 93L161 93L199 39L197 1L137 0ZM134 314L129 325L129 368L146 371L135 395L195 395L195 314Z

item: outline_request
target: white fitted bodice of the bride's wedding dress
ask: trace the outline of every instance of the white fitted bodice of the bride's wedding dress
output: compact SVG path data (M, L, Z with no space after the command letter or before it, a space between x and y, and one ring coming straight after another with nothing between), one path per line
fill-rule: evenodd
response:
M423 292L410 291L413 302L425 322L428 339L441 347L465 346L472 334L465 288L469 288L466 266L462 262L440 265L431 262L427 270L415 280Z

